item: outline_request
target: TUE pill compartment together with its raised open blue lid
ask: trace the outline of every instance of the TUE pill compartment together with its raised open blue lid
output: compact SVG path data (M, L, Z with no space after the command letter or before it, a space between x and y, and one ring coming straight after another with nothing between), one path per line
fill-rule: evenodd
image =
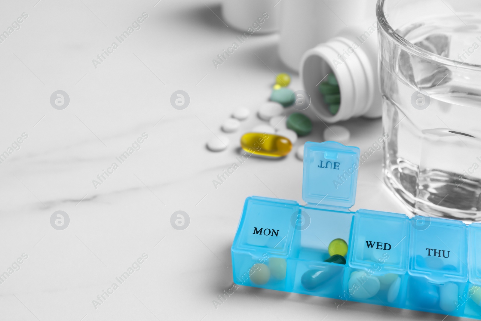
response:
M336 239L349 246L357 183L359 149L337 142L304 144L301 214L310 225L296 228L292 257L296 259L294 292L339 299L346 270L346 252L331 257Z

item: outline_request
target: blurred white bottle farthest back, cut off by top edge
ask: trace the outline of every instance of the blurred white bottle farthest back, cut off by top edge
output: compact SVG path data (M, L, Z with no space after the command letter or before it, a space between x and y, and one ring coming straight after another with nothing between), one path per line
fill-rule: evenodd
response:
M278 31L279 0L223 0L222 18L230 27L247 31L253 24L259 25L258 19L263 21L261 28L256 29L256 34L265 34ZM266 14L268 18L266 17ZM263 15L264 14L264 15ZM263 18L264 17L264 18Z

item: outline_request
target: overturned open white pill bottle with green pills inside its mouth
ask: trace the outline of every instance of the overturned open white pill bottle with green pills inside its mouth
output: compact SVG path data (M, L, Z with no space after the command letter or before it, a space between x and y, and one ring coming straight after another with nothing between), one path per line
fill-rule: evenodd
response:
M364 30L365 29L365 30ZM301 58L300 77L304 90L311 97L311 108L328 123L364 116L382 116L382 99L377 73L377 32L374 21L342 30L306 51ZM338 107L330 103L323 85L333 75L338 86Z

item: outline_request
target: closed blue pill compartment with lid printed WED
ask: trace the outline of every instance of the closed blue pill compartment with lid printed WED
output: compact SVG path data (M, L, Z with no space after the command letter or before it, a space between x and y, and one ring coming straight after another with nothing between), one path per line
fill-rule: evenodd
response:
M403 308L410 220L404 214L355 213L344 276L344 300Z

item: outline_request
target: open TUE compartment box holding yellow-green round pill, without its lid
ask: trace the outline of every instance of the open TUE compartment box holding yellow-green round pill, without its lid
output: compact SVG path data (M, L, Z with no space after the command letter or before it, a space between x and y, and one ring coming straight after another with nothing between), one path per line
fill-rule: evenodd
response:
M339 298L352 217L350 212L300 208L290 256L293 292Z

